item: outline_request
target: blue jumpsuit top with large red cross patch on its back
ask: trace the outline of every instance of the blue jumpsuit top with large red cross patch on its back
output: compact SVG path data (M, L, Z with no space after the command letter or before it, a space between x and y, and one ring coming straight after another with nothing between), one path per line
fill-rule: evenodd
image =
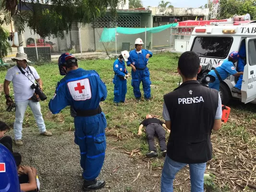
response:
M107 87L96 71L82 68L72 70L58 83L55 94L49 101L49 109L57 114L66 106L75 110L92 110L107 97Z

